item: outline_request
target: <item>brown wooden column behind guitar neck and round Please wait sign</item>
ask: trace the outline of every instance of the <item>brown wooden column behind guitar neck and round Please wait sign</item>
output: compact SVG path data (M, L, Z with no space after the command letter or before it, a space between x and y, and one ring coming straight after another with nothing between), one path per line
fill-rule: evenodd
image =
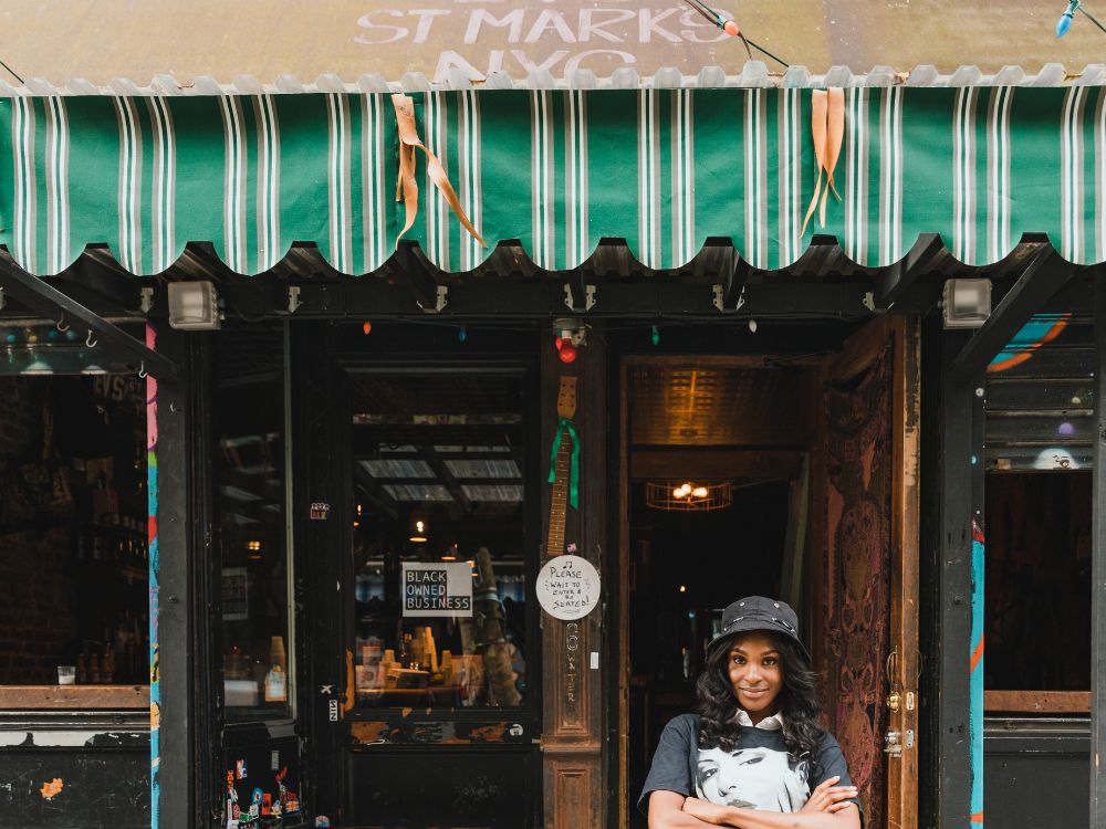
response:
M549 448L557 424L560 378L577 377L573 423L580 436L580 508L568 510L565 543L599 571L603 596L616 585L605 571L606 548L606 354L593 330L574 364L565 365L553 349L552 335L542 338L542 447ZM543 475L544 480L544 475ZM549 520L550 486L542 499ZM542 537L547 537L543 525ZM543 550L542 560L564 550ZM578 621L560 621L542 612L543 789L547 829L601 829L606 802L603 753L603 616L608 602Z

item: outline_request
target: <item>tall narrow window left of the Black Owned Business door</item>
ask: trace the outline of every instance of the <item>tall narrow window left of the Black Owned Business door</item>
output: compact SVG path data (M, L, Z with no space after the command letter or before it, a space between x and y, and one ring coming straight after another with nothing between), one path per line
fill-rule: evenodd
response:
M292 715L285 388L279 330L219 336L215 484L227 720Z

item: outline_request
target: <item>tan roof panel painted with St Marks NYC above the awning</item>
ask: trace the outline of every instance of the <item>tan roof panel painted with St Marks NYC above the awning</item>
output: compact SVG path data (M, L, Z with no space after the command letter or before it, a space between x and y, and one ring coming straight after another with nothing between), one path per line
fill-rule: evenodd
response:
M769 0L719 0L708 4L737 14L742 31L755 42L812 72L833 65L866 72L878 64L911 70L919 63L931 63L941 72L974 63L984 72L1004 64L1035 72L1051 61L1078 71L1102 60L1102 32L1087 20L1077 17L1063 40L1055 38L1063 3L794 0L782 7ZM1102 2L1092 6L1103 8ZM169 14L187 10L191 24L164 25L166 9ZM517 80L533 69L549 70L554 77L573 69L603 77L620 66L643 75L660 66L695 74L708 64L739 73L745 62L739 41L679 0L512 4L36 0L6 3L4 27L20 33L4 43L4 63L23 76L42 75L56 84L70 77L106 84L118 76L145 83L167 66L187 84L201 74L228 82L239 73L262 82L289 73L309 82L322 72L356 82L363 72L397 81L405 72L418 71L442 81L451 69L471 77L502 69ZM210 48L210 32L216 31L221 46L217 50ZM259 31L265 36L258 38ZM311 36L303 38L304 31ZM117 33L109 50L96 48L103 32ZM782 69L771 61L769 66ZM14 81L6 72L0 76Z

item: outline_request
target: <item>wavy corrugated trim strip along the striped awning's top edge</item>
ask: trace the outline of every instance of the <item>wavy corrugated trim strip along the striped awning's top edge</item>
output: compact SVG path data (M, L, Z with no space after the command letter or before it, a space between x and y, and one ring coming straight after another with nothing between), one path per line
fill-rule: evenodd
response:
M1035 74L1020 66L1004 66L993 74L978 66L961 66L951 74L942 74L929 64L916 66L911 72L896 72L890 66L874 66L867 72L855 73L848 66L833 66L817 74L805 66L792 66L784 73L770 72L762 61L749 61L740 75L727 75L721 66L703 66L698 74L685 75L678 69L664 67L651 76L641 76L636 70L624 66L609 77L597 78L589 70L580 70L568 77L554 77L547 70L532 72L524 78L513 78L505 72L493 72L483 81L473 82L453 70L446 83L432 83L419 72L405 74L398 81L385 80L378 74L365 74L347 81L335 74L322 74L314 81L301 81L294 75L279 75L272 82L261 82L252 75L236 75L230 83L199 75L194 83L181 85L173 75L155 75L149 83L139 85L121 77L107 86L97 86L85 78L74 77L56 86L41 77L28 78L22 86L0 81L0 97L54 95L259 95L298 93L393 93L427 92L431 90L635 90L635 88L705 88L731 86L739 88L825 88L828 86L1100 86L1106 84L1106 64L1087 64L1079 72L1070 72L1063 64L1046 63Z

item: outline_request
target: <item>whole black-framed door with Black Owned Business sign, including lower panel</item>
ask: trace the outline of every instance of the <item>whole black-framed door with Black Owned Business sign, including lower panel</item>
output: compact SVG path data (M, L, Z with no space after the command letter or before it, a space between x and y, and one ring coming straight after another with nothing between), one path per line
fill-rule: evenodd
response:
M530 382L471 366L345 372L353 695L341 741L353 825L535 819Z

